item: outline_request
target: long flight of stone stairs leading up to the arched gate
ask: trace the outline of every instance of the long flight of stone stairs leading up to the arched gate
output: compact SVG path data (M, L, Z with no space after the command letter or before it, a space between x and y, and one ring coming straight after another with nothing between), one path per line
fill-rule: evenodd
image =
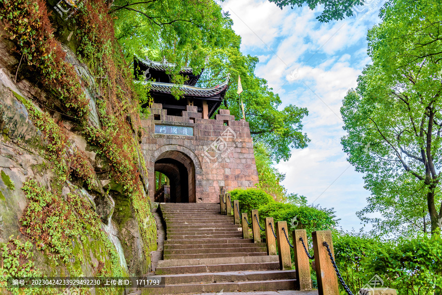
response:
M166 287L146 288L142 294L294 290L295 270L279 270L278 256L268 256L265 243L243 239L233 216L220 214L219 204L166 203L159 211L166 241L164 260L158 262L153 277L164 277ZM298 292L290 294L317 294Z

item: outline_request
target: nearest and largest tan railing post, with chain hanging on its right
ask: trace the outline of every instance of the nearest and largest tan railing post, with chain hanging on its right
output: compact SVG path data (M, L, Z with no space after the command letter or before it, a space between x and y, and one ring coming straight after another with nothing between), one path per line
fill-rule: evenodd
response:
M319 295L339 295L339 286L336 272L331 263L324 242L329 244L331 256L334 259L331 231L315 231L312 234L313 250L315 256L316 278L318 280Z

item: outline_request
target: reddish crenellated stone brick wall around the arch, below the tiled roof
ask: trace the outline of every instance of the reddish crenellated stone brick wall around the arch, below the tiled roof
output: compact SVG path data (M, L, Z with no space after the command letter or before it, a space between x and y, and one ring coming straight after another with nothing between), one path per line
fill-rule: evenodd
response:
M155 125L169 128L155 133ZM155 167L170 179L171 193L175 189L172 183L187 181L189 202L216 203L221 187L251 188L258 183L249 122L235 121L228 109L221 109L215 119L201 119L193 106L187 106L178 117L168 116L161 104L153 104L142 126L141 147L151 198L155 194ZM193 135L184 135L183 127L189 134L193 129ZM177 201L187 202L183 189L176 186L183 196Z

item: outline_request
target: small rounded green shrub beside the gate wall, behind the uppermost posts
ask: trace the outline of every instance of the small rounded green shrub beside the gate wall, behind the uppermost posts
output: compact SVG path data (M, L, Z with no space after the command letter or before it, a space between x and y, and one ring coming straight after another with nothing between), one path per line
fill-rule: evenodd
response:
M267 204L275 204L271 195L259 188L241 189L236 188L230 191L232 202L239 201L240 212L251 214L251 210L259 210L260 207Z

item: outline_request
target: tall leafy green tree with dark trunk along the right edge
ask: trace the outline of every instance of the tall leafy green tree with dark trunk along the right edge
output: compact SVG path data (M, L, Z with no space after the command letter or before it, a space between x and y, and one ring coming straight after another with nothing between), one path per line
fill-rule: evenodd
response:
M440 230L441 15L435 0L388 1L368 32L373 64L341 108L344 151L371 191L359 215L379 231Z

